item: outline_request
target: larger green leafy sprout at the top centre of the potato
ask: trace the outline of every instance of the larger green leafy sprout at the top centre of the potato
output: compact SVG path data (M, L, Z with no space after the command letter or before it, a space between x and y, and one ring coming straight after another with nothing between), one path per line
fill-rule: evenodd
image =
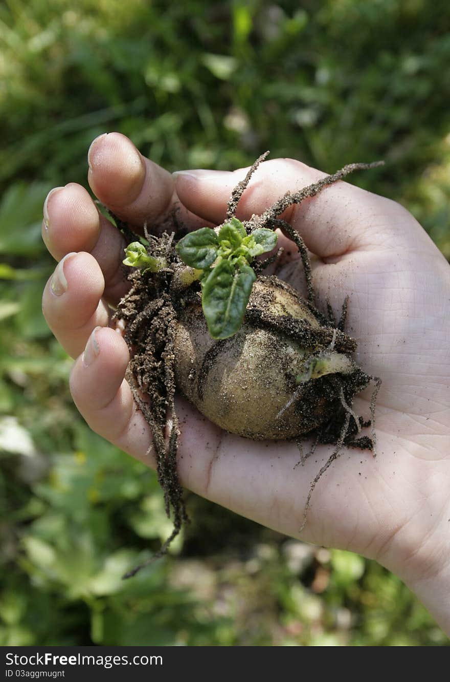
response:
M178 241L178 256L198 271L202 308L212 338L226 339L240 329L256 280L250 263L256 256L272 251L277 239L266 228L247 235L242 222L231 218L219 233L202 227Z

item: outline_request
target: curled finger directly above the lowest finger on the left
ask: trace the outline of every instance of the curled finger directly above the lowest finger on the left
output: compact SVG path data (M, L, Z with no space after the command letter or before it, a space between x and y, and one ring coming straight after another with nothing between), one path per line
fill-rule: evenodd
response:
M71 357L80 355L94 327L108 325L108 308L101 300L104 285L97 261L82 252L67 254L44 288L42 312Z

